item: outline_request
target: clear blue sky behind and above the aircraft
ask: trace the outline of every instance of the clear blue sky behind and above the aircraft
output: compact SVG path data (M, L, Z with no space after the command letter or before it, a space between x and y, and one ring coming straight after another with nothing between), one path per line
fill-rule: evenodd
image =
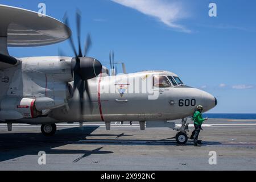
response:
M125 61L128 72L174 72L185 84L217 97L210 113L256 113L256 1L0 1L34 11L40 2L56 19L62 20L68 11L75 36L79 7L82 39L87 32L92 35L88 56L107 63L114 50L115 60ZM211 2L217 5L217 17L208 15ZM73 56L67 41L9 52L16 57L55 56L59 47Z

